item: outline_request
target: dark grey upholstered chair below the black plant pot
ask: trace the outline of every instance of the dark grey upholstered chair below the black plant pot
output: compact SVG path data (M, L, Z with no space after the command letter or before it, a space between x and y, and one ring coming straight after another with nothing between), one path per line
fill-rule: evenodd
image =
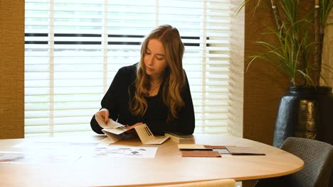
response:
M326 142L302 138L288 137L281 149L295 154L305 162L301 171L287 176L260 179L255 187L293 186L293 187L327 187L333 169L333 146ZM332 182L331 182L332 183Z

